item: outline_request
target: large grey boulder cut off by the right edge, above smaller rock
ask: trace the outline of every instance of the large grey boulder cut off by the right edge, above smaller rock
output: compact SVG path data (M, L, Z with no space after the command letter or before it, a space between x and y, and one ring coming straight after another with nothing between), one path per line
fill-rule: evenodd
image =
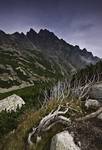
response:
M102 82L96 83L92 86L89 96L92 99L102 100Z

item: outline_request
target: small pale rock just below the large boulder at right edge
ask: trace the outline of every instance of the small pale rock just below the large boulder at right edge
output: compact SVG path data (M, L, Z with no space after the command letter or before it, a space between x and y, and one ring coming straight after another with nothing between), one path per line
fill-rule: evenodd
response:
M85 107L89 108L99 108L101 106L100 102L95 99L88 99L85 102Z

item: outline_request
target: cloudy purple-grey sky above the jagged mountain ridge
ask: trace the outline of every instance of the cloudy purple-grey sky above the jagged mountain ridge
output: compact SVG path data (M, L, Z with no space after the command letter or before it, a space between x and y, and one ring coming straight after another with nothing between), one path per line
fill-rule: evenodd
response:
M0 29L48 29L102 58L102 0L0 0Z

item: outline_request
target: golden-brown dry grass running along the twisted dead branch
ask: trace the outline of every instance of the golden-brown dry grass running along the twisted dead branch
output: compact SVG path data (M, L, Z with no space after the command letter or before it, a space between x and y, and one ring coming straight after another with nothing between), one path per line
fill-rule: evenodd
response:
M27 136L33 126L37 126L40 120L46 116L51 110L56 109L59 105L59 101L49 101L44 107L38 111L25 112L22 116L22 121L14 133L10 133L1 142L2 150L23 150L27 147ZM72 109L68 112L68 117L74 118L82 114L81 103L78 100L64 100L63 106L68 106ZM73 113L72 113L73 112Z

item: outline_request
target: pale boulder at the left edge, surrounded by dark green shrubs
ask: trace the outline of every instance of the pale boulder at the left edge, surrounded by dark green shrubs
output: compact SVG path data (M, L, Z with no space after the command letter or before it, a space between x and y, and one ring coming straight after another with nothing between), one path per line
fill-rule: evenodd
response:
M25 102L23 101L23 99L21 97L17 96L16 94L13 94L3 100L0 100L0 112L2 110L16 111L16 109L18 107L21 108L22 105L24 105L24 104L25 104Z

